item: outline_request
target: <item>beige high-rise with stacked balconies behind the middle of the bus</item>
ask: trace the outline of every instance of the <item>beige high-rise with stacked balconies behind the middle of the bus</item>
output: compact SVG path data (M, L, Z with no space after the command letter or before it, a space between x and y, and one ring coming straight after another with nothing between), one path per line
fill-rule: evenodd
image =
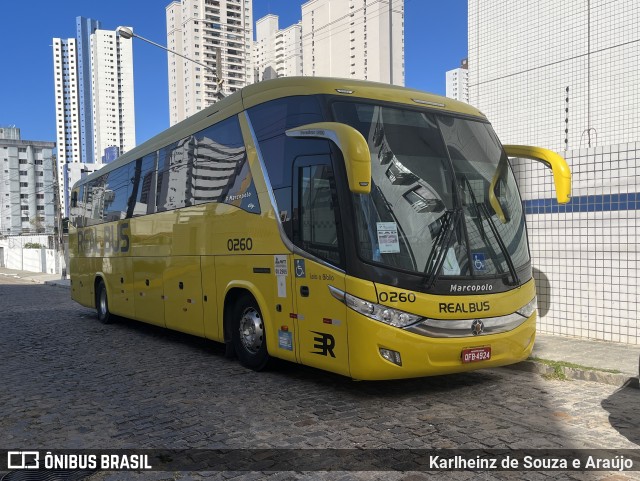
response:
M166 7L169 121L174 125L253 82L251 0L176 0ZM218 54L220 58L218 59Z

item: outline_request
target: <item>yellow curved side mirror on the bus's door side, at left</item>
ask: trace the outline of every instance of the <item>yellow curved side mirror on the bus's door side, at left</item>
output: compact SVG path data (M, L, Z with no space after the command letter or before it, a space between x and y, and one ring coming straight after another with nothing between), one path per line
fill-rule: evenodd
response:
M349 190L354 194L371 192L371 153L362 134L339 122L317 122L286 131L287 137L329 139L344 157Z

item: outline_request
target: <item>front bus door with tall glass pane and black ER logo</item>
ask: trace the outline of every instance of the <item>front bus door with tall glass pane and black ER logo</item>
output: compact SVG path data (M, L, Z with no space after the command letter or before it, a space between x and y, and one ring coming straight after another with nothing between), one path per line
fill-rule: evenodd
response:
M294 164L293 237L318 260L293 256L297 344L303 364L349 375L346 306L331 295L342 291L342 265L335 185L329 155L302 156Z

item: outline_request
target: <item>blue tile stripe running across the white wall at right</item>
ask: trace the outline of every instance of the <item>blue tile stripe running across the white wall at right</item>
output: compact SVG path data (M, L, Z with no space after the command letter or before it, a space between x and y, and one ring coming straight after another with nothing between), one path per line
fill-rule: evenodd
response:
M535 199L523 202L526 215L563 212L605 212L640 209L640 192L629 194L583 195L572 197L567 204L556 199Z

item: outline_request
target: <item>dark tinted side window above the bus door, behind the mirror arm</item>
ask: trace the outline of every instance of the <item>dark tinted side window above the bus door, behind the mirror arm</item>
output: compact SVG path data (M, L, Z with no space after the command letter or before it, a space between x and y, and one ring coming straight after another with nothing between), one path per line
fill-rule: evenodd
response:
M330 152L327 140L285 135L287 129L325 120L316 96L287 97L256 105L249 109L249 118L274 190L292 185L291 165L297 156Z

